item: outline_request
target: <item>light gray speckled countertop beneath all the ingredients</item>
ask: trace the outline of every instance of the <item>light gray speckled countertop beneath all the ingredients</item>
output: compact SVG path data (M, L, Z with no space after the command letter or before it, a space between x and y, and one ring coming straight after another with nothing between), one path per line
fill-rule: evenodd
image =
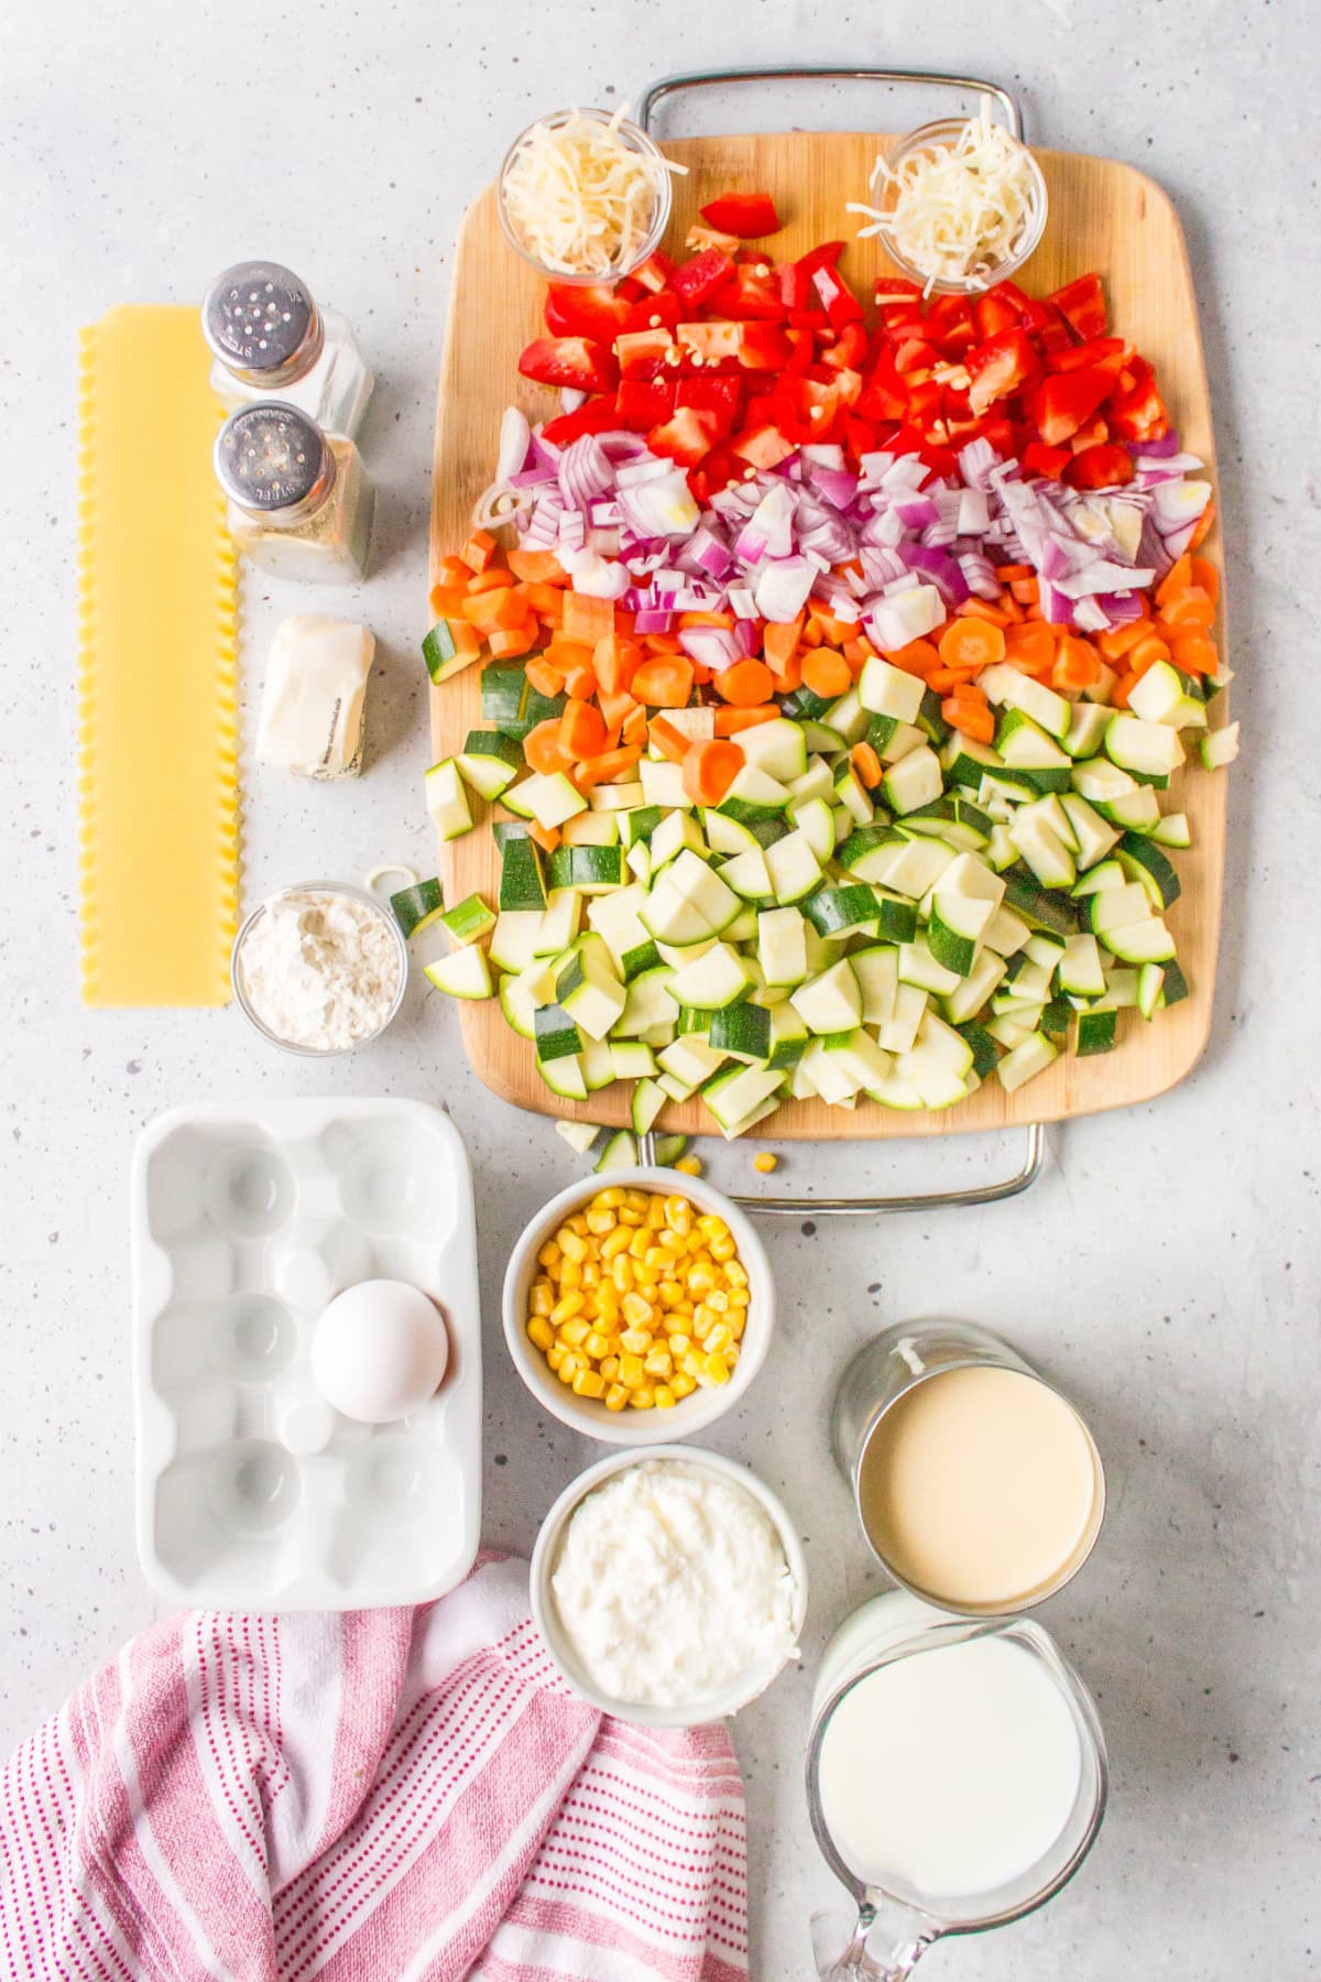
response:
M1266 771L1271 749L1321 731L1309 603L1321 569L1317 22L1303 0L1024 0L994 22L970 0L271 0L232 10L224 30L192 0L46 0L0 20L0 1740L18 1740L154 1615L131 1534L125 1173L160 1108L321 1088L444 1102L477 1171L487 1536L527 1548L590 1457L535 1421L497 1336L507 1249L574 1157L549 1124L473 1080L450 1009L414 987L382 1046L323 1074L263 1052L234 1013L77 1003L75 327L123 299L192 299L246 252L293 264L356 325L380 375L364 432L380 553L353 599L380 638L370 761L355 787L250 779L246 894L386 858L430 868L416 638L432 394L463 204L541 109L620 101L679 63L776 57L996 75L1022 91L1042 141L1129 159L1170 190L1202 297L1246 751L1198 1070L1157 1106L1054 1134L1048 1175L1016 1203L768 1231L780 1336L713 1443L788 1496L814 1588L804 1667L737 1722L755 1974L808 1972L806 1915L832 1885L800 1794L806 1703L826 1633L875 1588L826 1453L832 1379L877 1324L945 1310L1012 1336L1079 1401L1105 1455L1105 1534L1046 1621L1099 1699L1113 1804L1050 1909L1000 1936L949 1942L931 1976L1303 1982L1321 1972L1321 947L1305 838L1321 815L1307 759L1297 781ZM917 97L877 105L865 89L764 91L705 103L685 127L895 129L923 109ZM303 599L250 585L250 646ZM790 1146L780 1177L842 1189L862 1161L877 1181L949 1181L1004 1159L980 1140L875 1156ZM739 1150L711 1163L715 1181L749 1169Z

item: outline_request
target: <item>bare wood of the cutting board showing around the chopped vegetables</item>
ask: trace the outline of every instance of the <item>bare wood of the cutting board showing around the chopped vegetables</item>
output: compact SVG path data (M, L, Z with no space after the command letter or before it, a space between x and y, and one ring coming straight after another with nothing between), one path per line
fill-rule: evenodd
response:
M673 220L665 246L681 254L683 234L697 208L731 186L766 188L774 194L786 228L774 240L776 260L804 254L820 240L854 232L844 212L850 198L865 198L867 174L883 135L776 133L753 137L701 137L665 145L685 165L675 178ZM1050 186L1050 222L1020 281L1034 295L1062 281L1099 270L1105 277L1111 321L1157 367L1170 416L1182 444L1214 468L1210 402L1196 297L1182 230L1169 198L1151 178L1111 159L1077 153L1036 153ZM875 242L848 248L844 270L860 295L889 264ZM473 202L459 234L450 287L450 325L440 367L436 408L436 472L432 494L432 571L456 551L469 531L473 499L491 478L499 418L511 398L533 418L559 410L559 394L517 377L523 345L541 333L541 277L505 242L495 210L495 188ZM1204 555L1220 563L1212 533ZM1228 660L1222 622L1220 652ZM432 692L436 757L463 745L479 725L479 674L465 674ZM1113 1052L1079 1060L1062 1054L1018 1094L996 1080L957 1108L939 1114L899 1114L873 1102L856 1110L824 1102L786 1102L766 1122L764 1134L782 1140L852 1140L877 1136L945 1136L953 1130L988 1130L1020 1122L1058 1122L1151 1100L1180 1080L1198 1058L1210 1029L1224 876L1224 773L1188 767L1170 781L1167 809L1184 809L1192 848L1174 854L1182 896L1169 912L1190 997L1147 1025L1137 1013L1119 1015L1121 1037ZM446 900L481 892L495 902L499 860L483 825L442 846ZM499 1003L459 1003L459 1023L469 1058L489 1088L539 1114L628 1124L632 1084L616 1082L586 1102L566 1102L545 1086L533 1046L509 1031ZM661 1128L709 1132L711 1118L699 1102L667 1108Z

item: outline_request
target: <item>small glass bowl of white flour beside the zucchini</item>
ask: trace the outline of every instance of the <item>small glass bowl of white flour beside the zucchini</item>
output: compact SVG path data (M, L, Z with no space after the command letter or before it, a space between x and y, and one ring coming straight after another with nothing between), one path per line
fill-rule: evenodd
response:
M267 896L234 941L234 999L273 1046L325 1060L380 1039L408 985L408 945L364 888L303 880Z

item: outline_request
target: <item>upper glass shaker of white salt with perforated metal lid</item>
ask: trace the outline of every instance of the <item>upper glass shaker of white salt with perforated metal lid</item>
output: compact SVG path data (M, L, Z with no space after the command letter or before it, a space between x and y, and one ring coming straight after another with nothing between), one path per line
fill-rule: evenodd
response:
M234 412L277 398L355 440L376 383L345 317L279 262L238 262L206 291L212 390Z

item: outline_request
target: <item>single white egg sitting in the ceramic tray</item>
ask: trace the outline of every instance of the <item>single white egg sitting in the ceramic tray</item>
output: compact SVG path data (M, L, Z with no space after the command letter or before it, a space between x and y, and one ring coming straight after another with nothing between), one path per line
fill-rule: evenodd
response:
M345 1288L321 1312L311 1344L317 1389L364 1425L386 1425L424 1405L448 1362L440 1308L406 1280Z

